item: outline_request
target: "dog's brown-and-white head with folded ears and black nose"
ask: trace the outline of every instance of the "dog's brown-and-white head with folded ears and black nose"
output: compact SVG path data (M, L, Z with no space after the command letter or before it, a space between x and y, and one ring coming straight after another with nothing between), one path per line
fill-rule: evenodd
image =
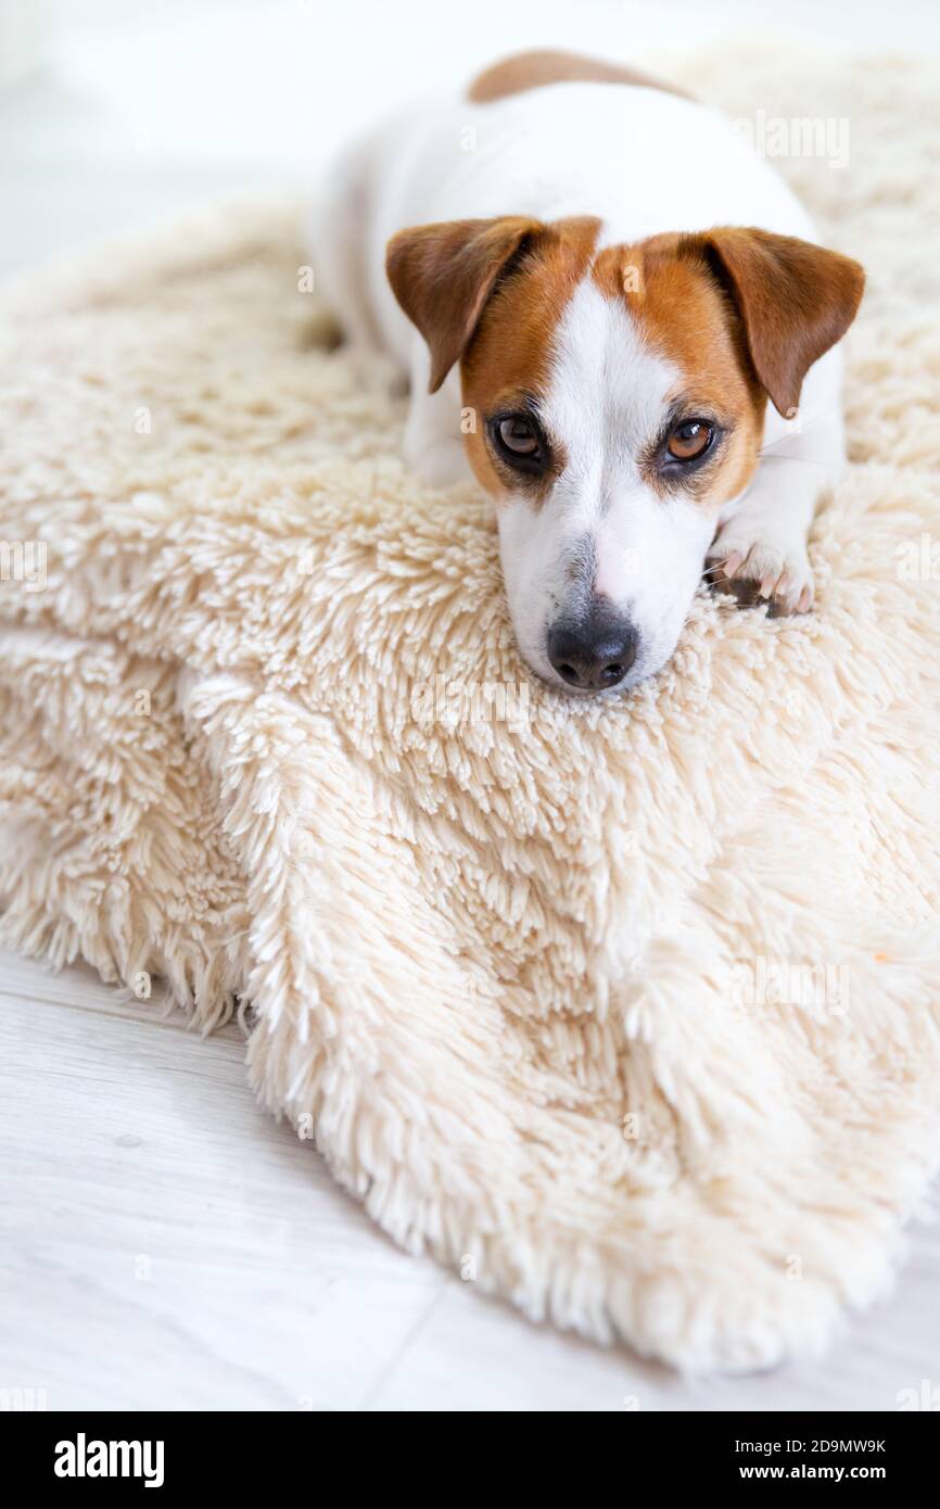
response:
M585 691L665 664L717 515L757 465L768 397L795 413L863 285L849 258L765 231L601 252L597 231L453 220L400 231L386 261L430 391L460 364L522 653Z

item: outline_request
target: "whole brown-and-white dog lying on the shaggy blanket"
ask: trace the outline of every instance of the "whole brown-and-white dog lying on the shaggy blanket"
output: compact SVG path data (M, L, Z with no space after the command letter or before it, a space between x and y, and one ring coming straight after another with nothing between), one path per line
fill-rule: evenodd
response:
M548 682L658 672L703 573L812 608L865 273L717 110L611 63L505 59L349 146L312 250L352 344L410 379L407 463L493 496Z

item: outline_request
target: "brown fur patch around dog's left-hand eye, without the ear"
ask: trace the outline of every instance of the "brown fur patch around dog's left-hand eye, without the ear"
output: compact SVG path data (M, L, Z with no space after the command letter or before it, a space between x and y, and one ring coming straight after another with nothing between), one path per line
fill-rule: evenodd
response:
M590 217L554 220L533 237L525 258L489 299L480 324L463 353L463 404L475 429L466 436L474 472L487 492L519 490L518 474L504 475L486 441L484 420L499 409L518 409L527 397L539 398L548 386L552 340L578 282L594 254L601 222ZM560 466L533 483L542 496Z

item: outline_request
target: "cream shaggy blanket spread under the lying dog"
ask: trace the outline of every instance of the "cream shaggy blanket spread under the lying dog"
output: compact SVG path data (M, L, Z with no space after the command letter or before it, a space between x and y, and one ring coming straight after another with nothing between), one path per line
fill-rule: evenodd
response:
M329 349L294 213L8 290L0 942L205 1028L409 1249L683 1367L868 1302L938 1157L935 74L736 54L869 293L818 610L703 593L576 703L489 506L422 490ZM300 272L299 272L300 269ZM208 1112L211 1114L211 1112Z

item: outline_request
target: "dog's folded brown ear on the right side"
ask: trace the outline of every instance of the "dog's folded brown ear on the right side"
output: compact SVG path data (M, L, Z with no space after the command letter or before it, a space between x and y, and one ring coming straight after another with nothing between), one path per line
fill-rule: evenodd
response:
M683 237L680 254L690 252L730 293L754 371L774 407L792 418L807 371L856 318L865 270L812 241L745 226Z

